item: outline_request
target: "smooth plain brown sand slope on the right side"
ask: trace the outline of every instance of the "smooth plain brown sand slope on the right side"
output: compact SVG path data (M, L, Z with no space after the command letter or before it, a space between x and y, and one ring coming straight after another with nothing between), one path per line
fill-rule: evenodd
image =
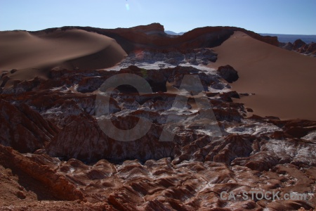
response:
M211 65L232 65L239 74L232 89L255 93L238 101L257 115L283 119L316 120L316 59L279 49L235 32L214 48L218 60Z

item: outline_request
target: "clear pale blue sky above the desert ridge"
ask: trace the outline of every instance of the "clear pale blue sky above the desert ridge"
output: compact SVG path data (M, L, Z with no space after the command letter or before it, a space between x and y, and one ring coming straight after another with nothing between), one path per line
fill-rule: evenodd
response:
M0 0L0 30L161 23L186 32L236 26L261 33L316 34L316 0Z

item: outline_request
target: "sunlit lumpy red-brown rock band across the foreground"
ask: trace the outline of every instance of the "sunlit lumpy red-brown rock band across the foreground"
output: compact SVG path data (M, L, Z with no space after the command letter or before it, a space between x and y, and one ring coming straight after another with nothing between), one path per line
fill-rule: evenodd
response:
M234 150L241 147L245 138L230 136L227 139L228 148ZM249 151L242 149L239 155L248 154ZM54 194L58 194L58 198L79 199L84 201L81 202L84 207L90 204L91 210L100 209L98 206L108 210L242 210L245 206L256 210L293 210L300 207L309 210L315 207L312 204L316 202L311 195L306 195L307 200L278 200L285 193L312 193L316 181L315 167L298 168L291 164L279 164L270 171L259 172L249 167L230 166L219 160L190 160L175 164L171 158L146 162L126 160L118 164L99 160L87 165L79 160L59 161L47 155L23 156L11 148L0 147L1 165L5 165L4 160L8 159L13 160L11 168L18 167L42 182ZM29 165L32 168L27 169ZM8 167L7 164L5 166ZM43 177L37 176L39 172ZM55 181L54 186L50 183L51 179ZM278 198L272 200L271 195L270 200L252 200L251 191L256 190L278 191ZM246 195L247 199L228 200L220 198L223 191L233 191L235 195L243 192L249 194ZM70 194L66 196L65 193ZM239 199L239 196L236 197ZM29 201L25 205L32 205L35 209L41 207L40 203ZM65 206L62 202L55 202L55 205Z

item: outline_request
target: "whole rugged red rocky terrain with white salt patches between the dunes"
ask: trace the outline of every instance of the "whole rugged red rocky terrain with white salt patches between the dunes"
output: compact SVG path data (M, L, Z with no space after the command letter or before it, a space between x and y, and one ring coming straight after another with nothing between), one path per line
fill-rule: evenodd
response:
M232 89L239 75L229 64L207 68L218 59L207 45L218 43L201 43L219 29L223 37L233 30L193 30L183 36L197 38L169 49L159 25L100 30L129 53L114 68L56 67L46 79L12 86L8 77L22 70L4 72L0 210L315 209L316 122L260 117L234 102L252 94ZM134 49L133 33L161 49L141 37ZM129 74L145 91L124 83L105 89ZM144 134L118 140L142 121ZM223 191L249 197L228 200ZM251 191L279 191L280 199L252 199ZM282 200L285 193L306 198Z

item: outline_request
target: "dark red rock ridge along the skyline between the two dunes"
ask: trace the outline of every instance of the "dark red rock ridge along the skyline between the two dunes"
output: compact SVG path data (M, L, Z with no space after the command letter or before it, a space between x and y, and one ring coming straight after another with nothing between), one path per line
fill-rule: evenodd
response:
M80 29L88 32L97 32L115 39L126 51L131 53L139 49L154 51L188 51L190 49L211 48L219 46L232 35L234 31L242 31L251 37L275 46L279 45L277 37L261 36L255 32L238 27L201 27L177 37L169 37L164 33L164 27L159 23L131 28L100 29L93 27L62 27L61 30ZM42 30L52 32L57 28ZM32 32L34 34L41 33Z

